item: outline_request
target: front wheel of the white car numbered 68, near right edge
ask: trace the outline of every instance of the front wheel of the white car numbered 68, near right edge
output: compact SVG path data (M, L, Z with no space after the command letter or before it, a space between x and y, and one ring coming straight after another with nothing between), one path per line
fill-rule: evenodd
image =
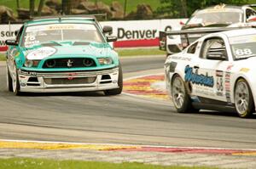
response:
M245 79L236 82L234 100L237 114L242 118L253 115L254 102L252 91Z

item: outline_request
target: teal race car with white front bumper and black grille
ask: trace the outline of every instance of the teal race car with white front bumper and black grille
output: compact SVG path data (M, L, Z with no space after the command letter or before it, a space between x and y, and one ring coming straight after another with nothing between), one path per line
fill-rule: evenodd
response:
M55 16L26 21L7 40L7 85L22 92L122 92L118 54L108 42L112 27L93 16Z

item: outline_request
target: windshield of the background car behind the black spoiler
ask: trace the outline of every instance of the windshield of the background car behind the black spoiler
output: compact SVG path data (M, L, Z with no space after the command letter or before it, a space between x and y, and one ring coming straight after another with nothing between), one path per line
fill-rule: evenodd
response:
M227 26L242 21L241 10L202 10L192 16L186 27Z

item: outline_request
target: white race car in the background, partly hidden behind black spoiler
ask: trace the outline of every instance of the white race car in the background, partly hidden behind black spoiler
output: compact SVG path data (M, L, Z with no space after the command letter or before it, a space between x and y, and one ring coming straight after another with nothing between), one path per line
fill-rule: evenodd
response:
M198 9L192 14L182 26L182 30L207 30L221 27L248 26L256 20L256 11L253 9L256 4L234 6L220 4L207 8ZM254 24L255 25L255 24ZM204 36L204 34L183 36L167 36L166 44L162 44L167 55L176 54L186 47L189 42Z

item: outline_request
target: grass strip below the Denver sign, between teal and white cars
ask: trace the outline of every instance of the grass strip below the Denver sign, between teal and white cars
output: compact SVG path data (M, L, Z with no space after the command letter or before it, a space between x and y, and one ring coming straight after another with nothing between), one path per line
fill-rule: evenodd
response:
M120 57L166 54L165 51L160 51L158 48L116 49L116 52Z

